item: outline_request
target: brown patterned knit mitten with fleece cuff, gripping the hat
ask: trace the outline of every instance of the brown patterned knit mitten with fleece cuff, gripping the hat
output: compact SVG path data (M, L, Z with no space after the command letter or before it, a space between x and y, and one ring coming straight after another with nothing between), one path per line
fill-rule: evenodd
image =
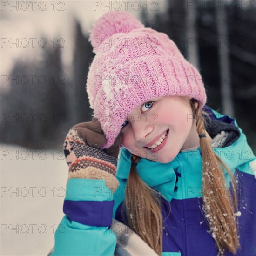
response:
M106 137L97 118L72 127L63 145L68 178L105 180L106 186L115 191L119 186L115 176L121 140L119 135L110 148L101 149Z

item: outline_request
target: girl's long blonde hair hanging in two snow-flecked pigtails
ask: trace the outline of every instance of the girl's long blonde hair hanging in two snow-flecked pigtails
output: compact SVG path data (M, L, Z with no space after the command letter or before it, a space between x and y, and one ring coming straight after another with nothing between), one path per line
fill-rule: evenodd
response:
M199 103L195 99L190 100L190 106L195 118L198 135L205 134L205 119L201 114L207 117L207 113L199 108ZM225 249L236 254L240 244L236 227L238 220L235 214L237 210L235 179L229 168L212 150L205 137L200 138L200 148L202 154L202 199L205 218L208 221L220 255L224 255ZM211 152L210 157L209 152ZM141 157L137 155L132 154L131 156L132 165L127 180L122 212L126 212L129 227L157 254L162 256L163 220L160 200L162 195L149 187L138 175L136 165L140 159ZM219 188L226 191L222 167L226 169L230 177L234 191L232 200L226 193L216 193ZM134 193L135 188L138 189L136 193ZM210 195L209 190L213 191ZM228 232L227 228L231 228L232 232Z

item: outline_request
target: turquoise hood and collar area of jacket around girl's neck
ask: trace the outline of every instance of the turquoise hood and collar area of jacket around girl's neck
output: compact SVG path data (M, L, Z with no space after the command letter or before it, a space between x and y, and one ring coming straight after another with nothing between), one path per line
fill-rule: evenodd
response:
M205 128L213 141L211 147L221 160L229 167L232 174L240 166L254 174L249 164L255 159L246 136L238 127L236 119L229 115L222 115L205 106L209 114ZM128 179L131 167L131 153L121 148L117 164L117 179L123 189ZM141 179L159 191L168 201L172 198L186 199L202 196L202 157L201 148L179 152L175 159L168 163L160 163L141 158L137 165L137 172ZM249 168L249 170L248 170ZM229 184L229 175L224 170L226 184ZM229 186L226 186L227 188Z

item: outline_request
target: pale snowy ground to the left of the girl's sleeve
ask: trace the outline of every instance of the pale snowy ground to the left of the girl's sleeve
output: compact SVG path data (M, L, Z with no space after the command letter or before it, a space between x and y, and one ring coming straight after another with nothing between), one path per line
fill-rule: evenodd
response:
M65 157L59 150L6 144L0 151L0 255L47 255L64 216Z

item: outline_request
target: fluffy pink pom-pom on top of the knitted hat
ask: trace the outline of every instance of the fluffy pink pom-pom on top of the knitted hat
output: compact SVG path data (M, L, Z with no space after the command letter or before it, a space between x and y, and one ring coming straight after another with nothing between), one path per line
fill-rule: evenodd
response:
M93 28L89 31L89 41L94 47L94 53L96 54L104 38L109 38L117 33L129 33L143 27L144 25L130 13L125 11L111 11L105 13L94 23Z

